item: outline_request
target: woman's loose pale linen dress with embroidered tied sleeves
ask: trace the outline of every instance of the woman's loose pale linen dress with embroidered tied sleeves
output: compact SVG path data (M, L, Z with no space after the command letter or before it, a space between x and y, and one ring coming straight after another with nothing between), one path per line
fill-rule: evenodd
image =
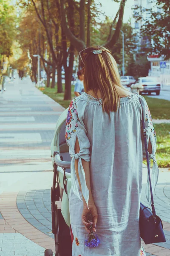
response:
M72 188L69 195L71 227L74 235L73 256L145 256L139 231L139 209L142 189L142 109L147 143L151 141L153 190L158 180L155 159L156 134L145 99L133 93L120 99L120 108L109 115L102 111L102 99L87 93L71 101L66 122L66 141L71 160ZM80 152L75 154L76 137ZM88 202L89 191L81 159L90 161L91 191L98 211L96 235L101 243L88 248L89 235L82 224L82 194L75 174L78 171L82 194ZM149 200L149 183L147 198Z

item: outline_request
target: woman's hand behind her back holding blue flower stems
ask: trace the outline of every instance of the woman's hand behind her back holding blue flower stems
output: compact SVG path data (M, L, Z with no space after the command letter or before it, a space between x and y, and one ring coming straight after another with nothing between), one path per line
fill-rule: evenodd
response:
M88 209L89 207L89 209ZM87 220L87 214L88 213L91 213L92 215L92 221L93 222L90 222L88 223L88 220ZM82 212L82 223L85 225L85 230L90 234L90 230L88 229L91 224L93 224L93 232L96 232L96 223L97 223L97 218L98 218L98 215L97 215L97 209L96 209L96 206L94 203L90 203L87 204L84 203L84 206L83 206L83 212Z

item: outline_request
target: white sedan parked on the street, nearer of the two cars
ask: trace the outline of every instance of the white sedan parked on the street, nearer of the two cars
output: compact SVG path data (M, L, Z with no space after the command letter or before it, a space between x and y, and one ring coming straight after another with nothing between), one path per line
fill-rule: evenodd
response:
M160 94L161 85L153 78L150 77L139 77L134 84L131 84L131 90L136 90L139 94L156 93Z

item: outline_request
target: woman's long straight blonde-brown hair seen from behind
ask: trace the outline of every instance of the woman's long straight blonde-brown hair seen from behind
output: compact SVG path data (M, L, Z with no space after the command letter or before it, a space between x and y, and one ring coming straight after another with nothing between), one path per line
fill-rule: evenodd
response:
M94 50L102 50L100 54L94 54ZM80 52L85 67L84 87L85 92L93 90L96 98L97 91L102 95L103 111L117 111L120 96L116 86L122 87L119 70L111 52L105 47L88 47Z

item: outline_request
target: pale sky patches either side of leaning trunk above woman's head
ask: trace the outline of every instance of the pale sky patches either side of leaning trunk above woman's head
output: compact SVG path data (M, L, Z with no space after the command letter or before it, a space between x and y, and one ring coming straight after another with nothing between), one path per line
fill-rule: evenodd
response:
M102 3L102 11L105 15L114 18L116 12L119 9L119 3L115 3L113 0L96 0L96 3ZM134 5L134 0L127 0L125 4L125 12L123 21L127 22L129 17L132 16L131 8Z

